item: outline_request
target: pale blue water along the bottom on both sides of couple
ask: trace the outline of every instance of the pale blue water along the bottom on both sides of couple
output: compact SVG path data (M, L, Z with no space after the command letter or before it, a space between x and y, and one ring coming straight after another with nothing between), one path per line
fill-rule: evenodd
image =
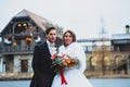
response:
M93 87L130 87L130 78L90 78ZM0 82L0 87L29 87L30 80Z

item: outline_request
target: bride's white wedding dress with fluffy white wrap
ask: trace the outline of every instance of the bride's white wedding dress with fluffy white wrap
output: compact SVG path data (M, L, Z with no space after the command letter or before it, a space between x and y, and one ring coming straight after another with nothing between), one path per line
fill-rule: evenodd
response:
M52 87L92 87L89 79L84 76L83 72L86 70L86 55L82 47L77 42L73 42L68 47L61 46L58 49L60 53L65 53L72 58L79 60L79 64L73 69L65 69L64 76L67 85L61 84L61 75L57 73L52 83Z

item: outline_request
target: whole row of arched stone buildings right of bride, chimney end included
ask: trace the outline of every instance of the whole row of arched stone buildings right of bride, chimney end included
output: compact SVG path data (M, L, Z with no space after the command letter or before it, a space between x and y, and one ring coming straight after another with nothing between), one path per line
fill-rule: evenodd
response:
M114 34L112 38L77 40L87 54L87 75L130 75L130 28L125 34Z

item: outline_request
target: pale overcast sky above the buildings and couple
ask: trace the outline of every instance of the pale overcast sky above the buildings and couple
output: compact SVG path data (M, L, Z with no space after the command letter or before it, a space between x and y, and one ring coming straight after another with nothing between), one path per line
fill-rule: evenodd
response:
M130 0L0 0L0 32L22 10L38 14L76 33L78 39L126 33Z

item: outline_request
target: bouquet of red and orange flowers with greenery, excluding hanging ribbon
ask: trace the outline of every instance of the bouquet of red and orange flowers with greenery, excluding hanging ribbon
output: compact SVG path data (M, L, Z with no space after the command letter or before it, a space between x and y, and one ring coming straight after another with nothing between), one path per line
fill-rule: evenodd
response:
M74 59L68 54L64 53L55 53L51 57L52 59L52 67L54 72L58 72L60 67L68 67L72 69L74 65L78 64L78 59Z

